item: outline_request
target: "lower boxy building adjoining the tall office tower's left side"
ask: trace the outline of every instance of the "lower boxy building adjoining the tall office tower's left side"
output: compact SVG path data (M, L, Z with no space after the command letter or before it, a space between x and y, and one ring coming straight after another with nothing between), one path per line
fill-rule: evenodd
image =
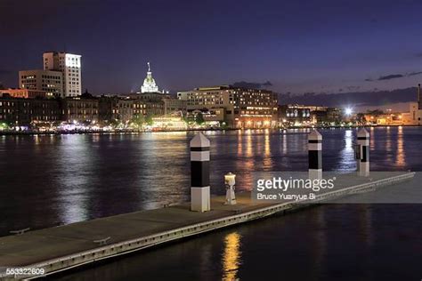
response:
M47 97L61 97L63 94L63 76L53 70L19 71L19 87L25 90L44 91Z

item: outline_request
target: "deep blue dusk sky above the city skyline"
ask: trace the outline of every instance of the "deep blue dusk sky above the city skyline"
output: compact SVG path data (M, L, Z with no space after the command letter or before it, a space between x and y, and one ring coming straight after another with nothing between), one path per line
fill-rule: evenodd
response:
M82 55L94 94L137 91L150 61L172 92L270 81L277 92L394 90L422 81L421 1L0 2L0 81Z

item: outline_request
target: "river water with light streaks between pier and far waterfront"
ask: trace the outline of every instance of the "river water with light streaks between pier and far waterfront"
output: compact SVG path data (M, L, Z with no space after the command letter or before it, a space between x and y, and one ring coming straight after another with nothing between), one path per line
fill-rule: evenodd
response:
M309 129L206 132L212 193L223 174L252 188L252 172L306 171ZM353 171L355 129L321 130L323 168ZM371 169L420 170L422 128L370 129ZM188 200L192 132L2 136L0 235ZM410 157L411 156L411 157Z

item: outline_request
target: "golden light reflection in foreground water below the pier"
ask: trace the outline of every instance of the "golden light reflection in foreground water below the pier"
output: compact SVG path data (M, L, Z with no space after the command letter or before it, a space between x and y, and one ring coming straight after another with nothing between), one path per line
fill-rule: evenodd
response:
M223 280L236 280L240 265L240 235L232 232L224 237Z

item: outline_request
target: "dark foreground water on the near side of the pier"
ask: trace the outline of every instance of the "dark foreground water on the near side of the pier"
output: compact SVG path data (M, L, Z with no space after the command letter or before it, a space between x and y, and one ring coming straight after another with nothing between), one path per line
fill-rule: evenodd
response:
M321 205L53 279L413 280L422 273L421 211L420 205Z

